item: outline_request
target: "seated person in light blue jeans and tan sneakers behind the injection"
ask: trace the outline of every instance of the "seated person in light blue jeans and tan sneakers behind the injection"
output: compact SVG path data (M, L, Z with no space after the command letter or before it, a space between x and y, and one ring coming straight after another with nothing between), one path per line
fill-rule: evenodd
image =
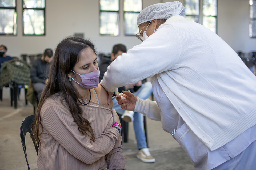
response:
M112 53L110 54L110 60L114 61L118 56L126 53L126 46L123 44L116 44L113 46ZM109 60L103 61L99 65L99 69L101 71L100 80L103 79L104 73L107 71L107 66L110 65L111 62ZM120 77L119 75L118 77ZM118 92L122 92L123 90L130 90L137 96L140 96L142 99L147 99L152 94L152 85L150 82L145 82L142 84L142 81L137 83L125 85L123 87L118 88ZM149 148L147 147L145 130L144 130L144 117L141 113L138 112L125 112L118 104L117 100L113 100L113 108L117 111L118 114L122 115L121 118L123 120L130 122L133 121L134 133L137 141L137 158L145 163L154 163L155 158L150 154Z

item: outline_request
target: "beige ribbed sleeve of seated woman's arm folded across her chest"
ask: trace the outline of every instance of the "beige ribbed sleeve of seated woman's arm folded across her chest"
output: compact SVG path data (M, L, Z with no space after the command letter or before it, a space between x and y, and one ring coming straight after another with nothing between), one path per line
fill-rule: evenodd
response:
M51 105L42 112L42 125L67 152L86 164L92 164L108 154L119 136L118 130L111 128L94 142L91 141L80 133L69 110L59 105Z

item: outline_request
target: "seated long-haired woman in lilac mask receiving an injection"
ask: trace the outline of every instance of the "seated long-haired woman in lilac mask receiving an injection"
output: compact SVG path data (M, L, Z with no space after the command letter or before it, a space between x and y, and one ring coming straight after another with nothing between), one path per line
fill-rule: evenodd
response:
M39 170L126 169L119 117L98 84L96 58L88 40L58 44L32 128Z

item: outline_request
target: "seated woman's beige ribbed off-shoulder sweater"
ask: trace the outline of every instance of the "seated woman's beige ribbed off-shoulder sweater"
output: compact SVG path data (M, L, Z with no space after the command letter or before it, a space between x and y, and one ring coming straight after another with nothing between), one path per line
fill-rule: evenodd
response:
M87 103L88 100L84 102ZM41 143L38 169L126 169L122 154L122 137L116 128L111 128L111 109L93 101L81 107L82 116L91 123L94 130L95 142L81 135L59 95L54 95L44 102L41 109L44 129L39 136Z

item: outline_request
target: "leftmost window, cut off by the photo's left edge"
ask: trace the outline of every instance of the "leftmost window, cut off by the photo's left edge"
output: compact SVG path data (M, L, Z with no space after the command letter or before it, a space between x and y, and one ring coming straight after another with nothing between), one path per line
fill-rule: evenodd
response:
M16 0L0 0L0 35L17 35Z

